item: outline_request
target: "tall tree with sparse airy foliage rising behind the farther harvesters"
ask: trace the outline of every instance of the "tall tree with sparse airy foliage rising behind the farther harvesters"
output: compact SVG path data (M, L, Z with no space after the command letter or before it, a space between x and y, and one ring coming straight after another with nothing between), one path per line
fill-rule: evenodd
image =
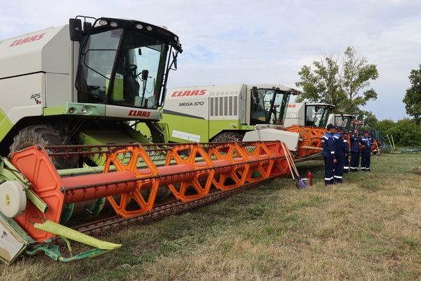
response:
M303 89L298 102L328 102L335 105L337 113L358 114L362 105L377 98L376 91L369 89L370 82L378 77L376 65L353 47L347 47L341 58L324 55L312 67L303 66L298 72L296 86Z

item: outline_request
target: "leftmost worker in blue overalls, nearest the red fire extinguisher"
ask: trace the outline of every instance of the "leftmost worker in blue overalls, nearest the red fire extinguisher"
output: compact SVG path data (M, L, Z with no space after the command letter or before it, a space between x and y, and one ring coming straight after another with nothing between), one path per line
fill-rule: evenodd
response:
M336 132L333 124L328 124L328 131L321 138L321 146L323 147L323 159L325 160L325 185L333 184L333 170L337 160L335 158L335 147L333 144L333 135Z

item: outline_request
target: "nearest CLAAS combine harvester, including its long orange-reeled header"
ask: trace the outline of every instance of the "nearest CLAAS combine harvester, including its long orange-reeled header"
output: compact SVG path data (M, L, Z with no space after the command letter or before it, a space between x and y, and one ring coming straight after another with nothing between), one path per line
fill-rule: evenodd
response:
M158 121L181 52L164 27L107 17L0 42L2 261L95 257L121 245L93 233L289 174L282 142L165 144ZM62 255L70 241L91 248Z

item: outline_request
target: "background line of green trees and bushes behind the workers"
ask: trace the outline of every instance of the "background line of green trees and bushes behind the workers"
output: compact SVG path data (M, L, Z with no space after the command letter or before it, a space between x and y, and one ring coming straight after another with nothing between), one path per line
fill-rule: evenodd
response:
M421 144L421 65L411 70L411 87L406 90L404 104L411 119L378 121L372 112L361 107L376 100L377 92L370 87L378 78L377 66L369 63L353 47L343 54L325 54L312 66L303 66L298 72L296 86L303 89L297 102L326 102L335 105L335 113L354 114L366 128L374 128L381 135L393 135L401 145Z

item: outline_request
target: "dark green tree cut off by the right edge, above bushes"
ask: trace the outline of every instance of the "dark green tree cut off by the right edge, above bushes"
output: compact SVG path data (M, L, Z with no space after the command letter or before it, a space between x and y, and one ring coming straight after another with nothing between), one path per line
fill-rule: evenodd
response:
M406 90L404 100L406 113L413 116L415 123L421 123L421 65L418 70L411 70L409 75L411 88Z

